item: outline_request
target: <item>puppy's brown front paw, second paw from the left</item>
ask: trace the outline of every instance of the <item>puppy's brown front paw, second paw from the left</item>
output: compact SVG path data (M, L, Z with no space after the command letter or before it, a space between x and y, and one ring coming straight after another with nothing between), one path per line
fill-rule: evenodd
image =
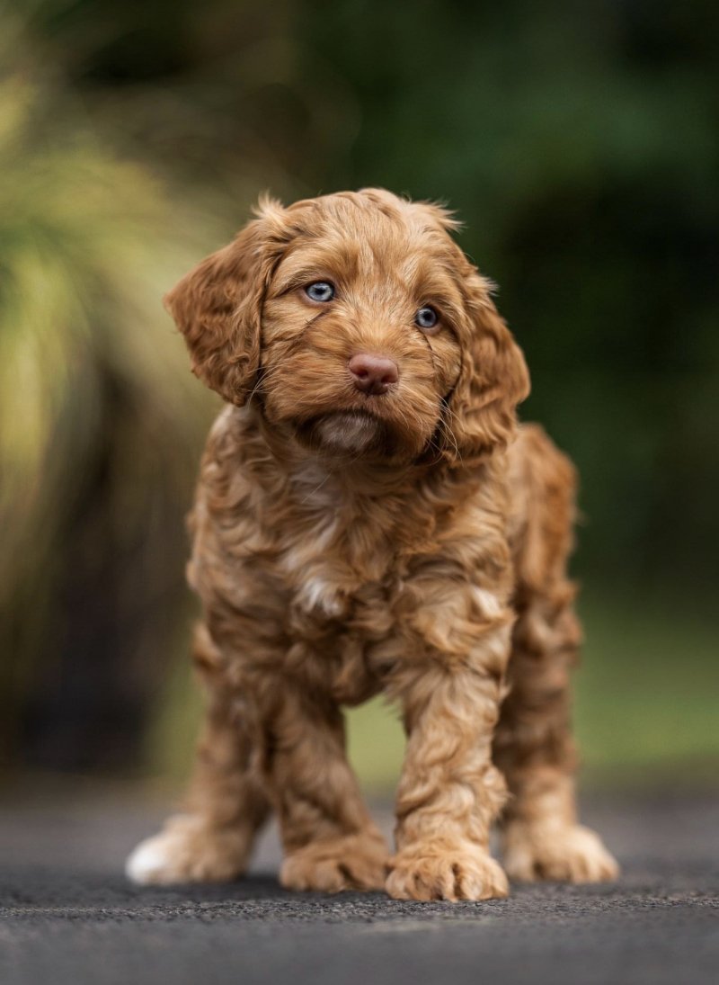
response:
M279 873L288 889L340 892L342 889L382 889L389 852L380 834L354 834L315 841L289 854Z

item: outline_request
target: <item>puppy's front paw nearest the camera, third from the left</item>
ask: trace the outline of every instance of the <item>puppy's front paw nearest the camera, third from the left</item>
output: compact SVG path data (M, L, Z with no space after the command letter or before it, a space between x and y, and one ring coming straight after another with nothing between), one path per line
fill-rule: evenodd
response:
M391 864L387 891L394 899L494 899L509 892L507 876L486 851L413 845Z

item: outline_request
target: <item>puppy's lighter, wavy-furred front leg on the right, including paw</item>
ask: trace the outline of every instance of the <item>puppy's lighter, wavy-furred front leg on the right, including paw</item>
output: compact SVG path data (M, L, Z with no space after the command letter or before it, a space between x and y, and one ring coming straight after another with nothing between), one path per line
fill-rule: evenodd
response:
M408 732L387 883L397 899L508 893L507 877L489 854L489 834L506 799L504 778L492 764L492 736L511 614L490 592L456 592L459 599L442 613L425 611L424 656L394 682Z

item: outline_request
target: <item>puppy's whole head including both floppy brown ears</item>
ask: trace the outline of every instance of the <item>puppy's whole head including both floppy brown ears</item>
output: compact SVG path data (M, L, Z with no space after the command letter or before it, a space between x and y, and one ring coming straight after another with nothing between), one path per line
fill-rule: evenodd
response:
M379 189L264 200L165 301L193 369L320 453L476 460L529 379L449 213Z

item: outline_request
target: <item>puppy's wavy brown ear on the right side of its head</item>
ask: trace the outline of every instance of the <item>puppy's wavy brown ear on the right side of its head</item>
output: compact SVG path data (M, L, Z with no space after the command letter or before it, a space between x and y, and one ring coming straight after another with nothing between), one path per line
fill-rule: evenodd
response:
M516 428L516 406L529 394L522 352L495 307L488 282L473 267L464 290L466 332L447 420L447 454L455 464L507 446Z

